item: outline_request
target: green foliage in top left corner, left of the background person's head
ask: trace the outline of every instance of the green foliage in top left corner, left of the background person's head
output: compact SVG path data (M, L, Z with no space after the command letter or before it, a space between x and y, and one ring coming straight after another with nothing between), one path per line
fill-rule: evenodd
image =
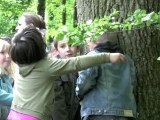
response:
M35 11L37 3L23 0L1 0L0 1L0 36L11 36L19 16L25 11ZM31 6L31 7L29 7Z

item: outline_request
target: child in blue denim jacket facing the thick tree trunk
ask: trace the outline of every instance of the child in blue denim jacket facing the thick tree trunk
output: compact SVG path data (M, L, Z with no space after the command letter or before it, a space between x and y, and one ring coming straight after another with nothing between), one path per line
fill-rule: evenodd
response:
M114 33L104 33L96 42L88 41L88 55L123 53L113 42L115 37ZM126 63L105 63L79 72L76 91L81 98L83 120L130 120L136 117L135 67L131 58L125 56Z

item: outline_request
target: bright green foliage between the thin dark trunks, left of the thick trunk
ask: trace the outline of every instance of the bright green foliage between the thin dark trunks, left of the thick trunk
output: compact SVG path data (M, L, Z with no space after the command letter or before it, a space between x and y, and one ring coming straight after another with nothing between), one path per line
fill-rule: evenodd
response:
M46 22L48 42L52 41L55 31L62 26L62 12L66 9L66 23L73 21L73 6L74 0L67 0L65 5L62 5L59 0L46 0ZM60 33L61 34L61 33Z

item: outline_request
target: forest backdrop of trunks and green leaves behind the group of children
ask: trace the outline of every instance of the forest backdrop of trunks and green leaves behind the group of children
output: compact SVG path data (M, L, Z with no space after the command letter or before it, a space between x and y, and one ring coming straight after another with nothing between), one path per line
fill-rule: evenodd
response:
M19 16L23 12L34 12L46 21L48 45L57 31L61 33L58 34L60 38L67 33L72 38L71 43L78 41L79 44L84 41L81 36L84 30L92 38L101 34L106 26L104 18L109 17L107 26L112 26L115 33L118 29L117 42L136 65L137 120L160 120L160 61L157 60L160 56L159 11L160 0L1 0L0 37L12 37ZM91 27L84 25L88 20L95 20L90 23ZM62 25L76 28L66 32L59 30ZM92 35L90 31L96 27L98 33Z

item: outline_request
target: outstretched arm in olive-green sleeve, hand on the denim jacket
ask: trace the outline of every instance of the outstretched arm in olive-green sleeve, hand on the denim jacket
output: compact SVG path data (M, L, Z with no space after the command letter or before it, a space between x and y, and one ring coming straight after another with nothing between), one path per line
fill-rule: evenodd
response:
M125 62L125 60L125 56L120 53L100 53L96 55L83 55L70 59L54 60L53 63L49 64L49 67L52 75L59 76L84 70L106 62L121 63Z

